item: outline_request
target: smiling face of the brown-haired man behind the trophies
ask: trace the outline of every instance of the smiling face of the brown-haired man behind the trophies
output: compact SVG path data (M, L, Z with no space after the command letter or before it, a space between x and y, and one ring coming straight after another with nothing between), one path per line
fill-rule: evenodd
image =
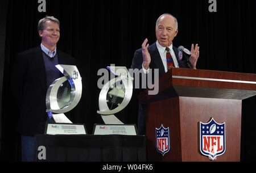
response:
M59 24L52 22L51 20L47 20L44 24L44 30L39 31L39 35L42 37L42 43L49 47L55 46L60 39Z

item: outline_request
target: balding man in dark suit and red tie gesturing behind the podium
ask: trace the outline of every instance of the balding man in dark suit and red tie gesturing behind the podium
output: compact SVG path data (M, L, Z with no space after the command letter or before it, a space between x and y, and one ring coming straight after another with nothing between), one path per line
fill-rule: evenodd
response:
M134 53L131 69L142 69L145 74L150 73L149 69L152 69L151 73L154 73L154 69L159 69L159 77L171 69L171 67L196 69L196 62L199 58L198 45L196 44L195 49L194 45L191 45L191 57L189 57L189 61L192 66L187 61L179 60L178 50L172 45L172 40L176 37L177 32L178 24L174 16L171 14L159 16L158 20L156 20L155 27L157 41L149 45L147 44L148 40L144 40L142 48L136 50ZM137 93L135 92L134 95ZM138 112L138 133L146 134L146 123L141 104L139 104Z

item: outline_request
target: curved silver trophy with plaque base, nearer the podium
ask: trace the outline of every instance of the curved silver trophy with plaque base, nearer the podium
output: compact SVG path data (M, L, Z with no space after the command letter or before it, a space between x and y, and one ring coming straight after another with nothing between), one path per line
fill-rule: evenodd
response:
M135 124L123 124L114 114L129 104L133 94L133 78L126 67L110 66L116 78L106 83L100 92L97 111L105 124L95 124L93 134L137 135Z

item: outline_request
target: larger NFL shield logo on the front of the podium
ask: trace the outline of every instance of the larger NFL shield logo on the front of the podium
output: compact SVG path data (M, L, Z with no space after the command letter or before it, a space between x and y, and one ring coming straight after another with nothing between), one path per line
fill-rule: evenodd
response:
M225 123L218 124L212 118L209 123L200 122L200 151L214 160L225 152Z

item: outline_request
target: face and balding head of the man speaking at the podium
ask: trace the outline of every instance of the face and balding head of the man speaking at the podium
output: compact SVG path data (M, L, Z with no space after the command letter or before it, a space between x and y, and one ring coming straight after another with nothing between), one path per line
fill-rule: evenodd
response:
M155 28L156 39L162 47L170 47L177 31L175 19L170 15L164 15L158 20L158 25Z

